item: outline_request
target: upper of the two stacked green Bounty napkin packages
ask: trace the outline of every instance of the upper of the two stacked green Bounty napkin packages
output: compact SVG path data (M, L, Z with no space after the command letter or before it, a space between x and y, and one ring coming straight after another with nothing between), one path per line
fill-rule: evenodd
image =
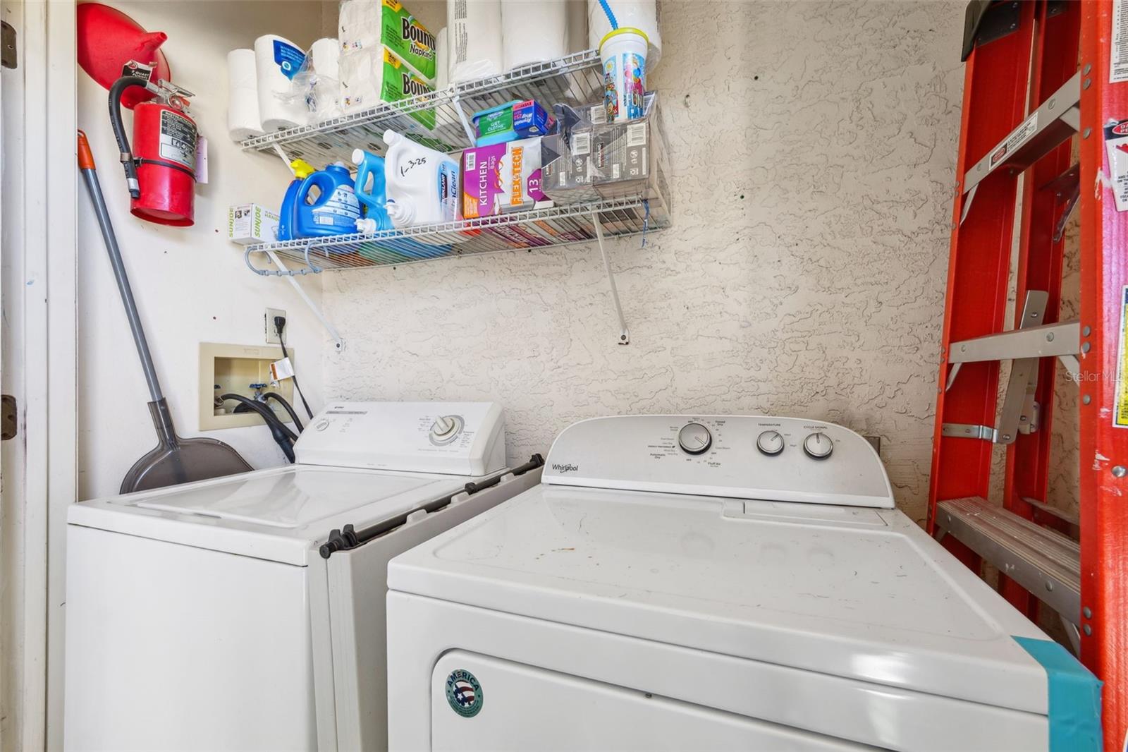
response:
M386 49L434 86L435 37L399 0L342 0L341 54Z

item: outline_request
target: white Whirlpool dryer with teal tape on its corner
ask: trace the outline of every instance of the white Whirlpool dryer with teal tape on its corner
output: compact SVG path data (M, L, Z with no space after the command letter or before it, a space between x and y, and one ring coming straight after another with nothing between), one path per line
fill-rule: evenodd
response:
M393 750L1095 750L1100 684L792 418L576 423L388 566Z

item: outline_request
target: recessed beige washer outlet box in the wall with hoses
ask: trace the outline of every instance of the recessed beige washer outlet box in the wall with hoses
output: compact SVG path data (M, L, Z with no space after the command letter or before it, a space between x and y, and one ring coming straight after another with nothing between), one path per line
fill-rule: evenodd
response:
M282 353L277 348L247 344L200 343L200 430L217 428L241 428L262 426L262 416L254 412L235 412L238 402L227 401L219 406L215 399L222 394L255 396L252 384L267 384L262 391L276 392L293 404L293 379L287 378L271 384L271 364ZM294 351L290 350L290 362L294 362ZM266 404L283 422L291 422L290 414L277 400Z

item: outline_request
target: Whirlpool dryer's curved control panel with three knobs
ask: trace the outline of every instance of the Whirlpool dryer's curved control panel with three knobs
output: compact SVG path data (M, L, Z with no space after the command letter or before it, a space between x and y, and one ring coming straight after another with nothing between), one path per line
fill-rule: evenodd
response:
M878 453L841 426L767 416L620 416L564 430L545 483L893 507Z

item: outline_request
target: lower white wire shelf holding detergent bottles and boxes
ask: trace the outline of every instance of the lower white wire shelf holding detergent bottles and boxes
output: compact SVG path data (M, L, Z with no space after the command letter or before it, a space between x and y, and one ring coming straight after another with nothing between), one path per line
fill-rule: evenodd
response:
M262 243L247 246L245 257L257 274L293 276L585 243L599 237L597 218L605 236L638 235L670 225L668 204L653 195L649 200L644 195L620 196L371 235ZM262 254L276 254L299 268L261 269L253 256Z

